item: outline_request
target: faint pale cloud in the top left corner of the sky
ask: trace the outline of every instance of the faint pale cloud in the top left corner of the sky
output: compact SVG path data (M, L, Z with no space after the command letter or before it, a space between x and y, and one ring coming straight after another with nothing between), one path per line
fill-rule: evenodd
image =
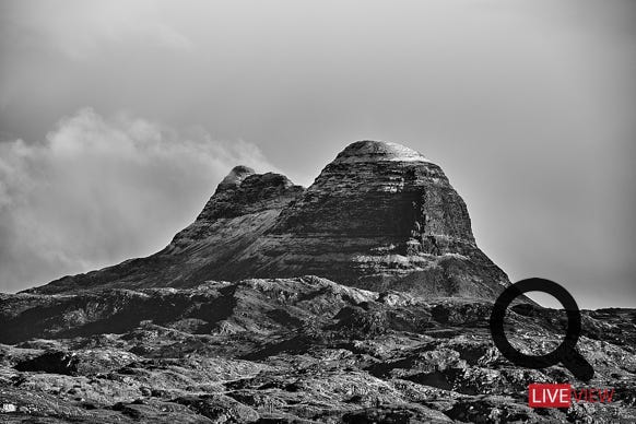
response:
M168 25L156 0L35 0L2 8L3 38L22 48L42 44L72 59L107 43L139 42L190 50L191 40Z

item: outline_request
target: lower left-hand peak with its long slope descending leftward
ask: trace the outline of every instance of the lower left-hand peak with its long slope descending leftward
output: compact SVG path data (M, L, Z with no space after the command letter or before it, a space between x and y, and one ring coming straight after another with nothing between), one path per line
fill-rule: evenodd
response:
M192 286L272 227L281 210L304 191L280 174L236 166L197 220L162 251L85 274L64 276L32 293L95 287Z

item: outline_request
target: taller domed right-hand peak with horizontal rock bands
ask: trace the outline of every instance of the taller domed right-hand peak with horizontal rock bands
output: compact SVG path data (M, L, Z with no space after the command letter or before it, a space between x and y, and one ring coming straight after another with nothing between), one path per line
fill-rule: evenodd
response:
M400 144L360 141L234 259L235 274L316 274L369 290L492 297L508 283L476 247L439 166ZM229 268L228 268L229 269Z

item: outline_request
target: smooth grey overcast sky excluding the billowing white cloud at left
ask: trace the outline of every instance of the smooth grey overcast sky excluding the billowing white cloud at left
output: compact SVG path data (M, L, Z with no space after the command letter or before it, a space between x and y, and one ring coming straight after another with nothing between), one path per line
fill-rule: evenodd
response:
M513 279L636 302L632 1L5 4L0 128L27 144L86 105L132 110L257 143L307 185L346 143L401 142Z

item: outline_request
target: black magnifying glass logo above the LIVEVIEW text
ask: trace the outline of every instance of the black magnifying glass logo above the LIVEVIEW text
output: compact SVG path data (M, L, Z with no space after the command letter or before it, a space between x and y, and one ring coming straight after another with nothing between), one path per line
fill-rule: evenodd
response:
M504 316L508 305L519 295L528 292L545 292L556 297L567 314L567 332L565 340L556 350L539 356L526 355L517 351L504 332ZM575 350L580 335L580 310L574 297L560 284L544 279L521 280L507 287L497 298L491 314L491 334L495 345L502 354L515 365L526 368L546 368L560 362L576 378L589 381L594 376L592 366Z

